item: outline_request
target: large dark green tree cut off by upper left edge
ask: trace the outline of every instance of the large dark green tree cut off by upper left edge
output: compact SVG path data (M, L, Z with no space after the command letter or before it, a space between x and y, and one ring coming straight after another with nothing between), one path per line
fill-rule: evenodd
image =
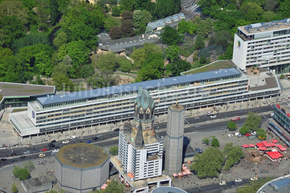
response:
M12 43L25 33L23 23L15 16L0 18L0 45L10 47Z

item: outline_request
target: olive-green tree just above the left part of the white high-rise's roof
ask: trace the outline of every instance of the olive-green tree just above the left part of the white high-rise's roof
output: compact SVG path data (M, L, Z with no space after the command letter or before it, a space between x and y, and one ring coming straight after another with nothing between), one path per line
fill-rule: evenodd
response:
M261 6L253 2L244 2L240 8L240 11L244 12L245 19L251 23L257 23L257 21L261 19L264 12Z

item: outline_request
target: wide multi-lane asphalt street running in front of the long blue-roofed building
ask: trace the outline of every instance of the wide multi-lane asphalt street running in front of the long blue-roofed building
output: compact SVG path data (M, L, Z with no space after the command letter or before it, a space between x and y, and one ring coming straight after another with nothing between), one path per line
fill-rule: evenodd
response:
M245 115L249 111L261 113L261 112L269 112L272 110L273 110L273 106L267 105L267 106L262 106L262 107L258 107L258 108L250 108L250 109L244 108L241 110L220 112L216 118L210 118L210 116L207 116L204 114L203 115L199 114L199 115L196 115L194 117L187 117L185 119L186 125L184 128L184 134L186 135L186 133L190 133L190 132L194 132L194 131L201 131L201 130L204 132L221 130L222 128L226 128L226 123L230 120L230 117L232 117L232 116L235 116L235 115L239 116L240 113L242 113L242 115ZM227 118L225 119L225 117L227 117ZM269 114L264 114L262 116L262 119L267 119L267 118L270 118ZM236 122L238 125L238 128L240 126L242 126L244 121L245 121L245 118L240 119L240 121ZM197 123L198 123L198 125L200 125L200 127L195 128L195 125L197 125ZM155 130L162 136L166 135L166 132L164 130L161 130L163 128L166 128L166 124L167 124L167 122L155 123ZM160 131L158 131L159 129L160 129ZM92 143L104 147L104 146L117 145L119 142L118 139L108 140L108 139L110 139L110 132L102 133L102 135L103 135L102 137L99 137L99 140L92 141ZM111 136L112 138L117 137L117 136L119 136L119 132L111 132L111 135L112 135ZM84 137L81 136L80 139L73 139L73 140L68 139L70 142L67 144L73 144L73 142L79 143L80 141L86 142L88 140L91 140L94 136L96 136L96 134L84 136ZM64 145L64 144L62 144L62 141L57 141L54 144L56 146L60 146L60 147L62 147ZM41 151L41 149L43 149L43 148L48 148L47 145L48 145L48 142L47 143L32 144L29 147L20 146L17 148L7 148L7 149L3 148L0 150L0 158L7 158L7 161L3 161L1 163L1 166L9 165L9 161L11 159L16 159L17 161L22 161L19 157L22 156L25 151L29 150L30 152L32 152L33 149L38 149ZM17 155L13 156L13 157L9 156L9 154L12 152L16 153ZM34 153L34 154L26 154L25 156L27 156L27 158L25 158L25 160L39 159L40 153L46 154L46 157L48 157L48 159L49 159L49 157L51 156L51 152L52 152L52 150Z

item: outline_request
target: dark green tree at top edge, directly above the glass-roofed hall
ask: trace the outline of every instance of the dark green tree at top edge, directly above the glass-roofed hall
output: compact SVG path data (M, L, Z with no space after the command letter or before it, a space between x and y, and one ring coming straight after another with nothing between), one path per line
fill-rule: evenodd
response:
M157 0L156 10L159 19L173 15L175 0Z

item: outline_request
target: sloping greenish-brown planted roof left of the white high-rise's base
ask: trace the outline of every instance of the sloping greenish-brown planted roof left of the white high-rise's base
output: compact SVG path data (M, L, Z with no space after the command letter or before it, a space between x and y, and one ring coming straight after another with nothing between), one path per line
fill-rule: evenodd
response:
M194 65L193 65L194 66ZM200 72L207 72L211 70L219 70L219 69L224 69L224 68L235 68L234 63L231 60L228 61L217 61L215 63L205 65L202 68L198 69L193 69L189 72L185 72L182 74L194 74L194 73L200 73Z

